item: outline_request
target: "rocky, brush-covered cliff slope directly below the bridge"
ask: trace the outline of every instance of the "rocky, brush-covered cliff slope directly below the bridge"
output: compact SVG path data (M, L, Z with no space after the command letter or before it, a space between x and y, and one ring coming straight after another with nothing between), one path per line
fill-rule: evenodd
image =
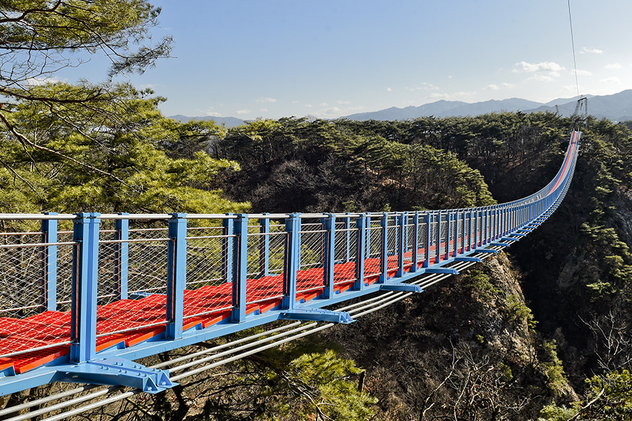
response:
M574 399L503 253L322 338L367 370L376 419L528 420ZM471 418L473 419L473 418Z

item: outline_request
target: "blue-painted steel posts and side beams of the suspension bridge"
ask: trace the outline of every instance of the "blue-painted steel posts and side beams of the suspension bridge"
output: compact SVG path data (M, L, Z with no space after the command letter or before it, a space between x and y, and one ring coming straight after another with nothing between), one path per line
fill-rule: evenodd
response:
M322 310L323 307L335 305L338 302L360 298L363 295L375 293L379 290L411 290L419 292L419 288L405 281L412 280L423 273L454 274L456 270L447 267L452 262L478 262L475 253L498 253L498 250L489 248L490 246L506 247L511 243L525 236L534 228L541 225L559 206L560 201L565 196L570 180L574 173L574 165L577 161L576 143L579 135L574 133L565 157L564 164L558 175L539 192L525 199L502 203L500 205L486 206L483 208L469 208L447 211L428 210L422 213L388 213L381 215L382 236L379 243L381 249L380 270L386 274L388 270L388 253L397 255L397 282L389 281L387 276L382 276L381 281L370 284L364 279L364 263L367 258L375 258L377 245L373 244L373 252L369 248L370 235L370 215L360 214L355 218L355 228L351 227L352 216L344 215L342 222L343 233L336 227L336 215L319 216L322 218L323 237L322 243L316 242L317 250L310 244L301 244L301 215L292 214L286 220L286 245L283 274L283 300L281 309L270 309L263 314L249 314L246 317L246 269L248 256L248 225L249 215L243 214L235 218L233 215L225 215L222 219L223 238L219 239L223 250L221 276L226 282L232 283L232 318L223 323L216 323L209 328L202 328L197 325L183 331L183 289L186 282L186 220L183 214L174 215L169 220L169 253L168 253L168 276L166 281L168 293L168 305L166 309L167 323L166 333L152 338L152 340L134 345L133 347L106 349L99 352L98 358L124 358L128 360L138 359L145 356L169 351L197 342L217 338L228 333L235 333L239 330L259 326L278 319L301 319L336 321L341 323L347 321L344 315ZM395 216L394 216L395 215ZM191 216L191 215L189 215ZM445 221L442 221L445 216ZM261 222L260 232L269 232L270 218L268 215L256 217ZM313 218L313 217L311 217ZM389 227L389 218L395 218L395 227ZM412 218L412 227L407 228L409 218ZM113 218L118 219L118 218ZM53 220L54 221L54 220ZM123 220L126 221L126 220ZM386 221L386 223L385 223ZM76 245L73 249L73 277L72 277L72 328L70 347L70 361L81 363L85 361L96 361L96 290L98 273L98 227L100 215L98 213L79 213L74 220L74 241ZM129 223L129 222L127 222ZM442 227L442 223L444 224ZM54 222L45 224L42 222L42 232L49 233L42 239L44 243L54 242L51 232L54 232ZM426 228L422 234L422 227ZM389 250L388 231L395 229L395 235L391 235L390 246L395 248ZM409 241L407 229L414 232L413 241ZM442 235L443 230L447 231ZM117 224L117 231L121 234L117 236L119 243L126 244L127 237L125 222ZM343 235L344 234L344 235ZM391 233L393 234L393 233ZM353 235L353 237L352 237ZM341 236L341 237L340 237ZM263 235L267 237L267 235ZM355 237L355 238L354 238ZM442 238L443 237L443 238ZM343 241L336 247L336 238ZM355 240L355 250L353 241ZM443 240L443 247L441 246ZM374 239L374 241L376 241ZM451 244L452 241L452 244ZM503 242L506 241L506 242ZM412 258L404 259L404 252L412 245ZM55 282L51 270L54 259L51 259L51 248L41 246L42 267L48 268L48 272L43 270L43 279L47 279L47 288L42 288L42 302L46 302L46 308L52 308L50 295L51 282ZM265 248L265 246L264 246ZM299 269L301 248L305 248L310 253L323 253L323 288L322 295L313 298L308 302L296 302L296 282ZM430 248L433 248L435 258L430 259ZM423 251L422 251L423 250ZM353 255L355 251L355 256ZM125 260L122 248L119 249L120 260ZM451 253L452 252L452 253ZM129 254L129 250L127 252ZM421 260L420 253L424 253ZM256 259L256 253L254 253ZM270 261L270 250L261 253L264 260ZM338 261L336 260L338 256ZM128 256L129 258L129 256ZM118 259L118 258L117 258ZM334 288L334 263L355 261L356 279L353 288L338 292ZM404 263L412 267L408 271L404 269ZM431 263L430 260L433 260ZM260 265L260 275L265 274L265 265ZM120 276L123 276L124 266L121 262ZM371 263L372 265L372 263ZM421 267L420 267L421 266ZM391 266L393 269L394 265ZM263 269L262 269L263 268ZM369 278L367 278L369 279ZM124 296L121 287L121 297ZM237 323L231 323L237 322ZM0 355L2 357L2 355ZM67 358L67 357L64 357ZM15 370L3 370L0 373L0 394L17 392L22 389L43 385L46 382L62 380L65 376L63 370L67 370L67 361L64 358L60 361L53 361L50 366L42 366L35 370L20 375L15 375ZM66 364L66 365L65 365ZM104 364L107 366L107 364ZM68 370L73 375L81 374L90 370ZM81 372L81 373L80 373ZM2 376L5 377L2 377ZM72 377L72 376L71 376ZM107 376L106 376L107 377ZM128 380L102 380L105 384L124 384ZM95 380L98 381L98 380ZM136 386L135 386L136 387ZM140 385L140 387L145 387ZM153 387L153 386L152 386Z

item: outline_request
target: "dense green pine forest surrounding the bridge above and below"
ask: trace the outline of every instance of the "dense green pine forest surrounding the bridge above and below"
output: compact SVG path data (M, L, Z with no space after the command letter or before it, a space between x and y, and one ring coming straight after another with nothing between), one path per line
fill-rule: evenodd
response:
M521 112L363 122L288 117L230 129L180 123L159 112L164 98L112 81L169 55L169 37L152 44L149 36L159 8L140 0L49 6L0 6L0 213L481 206L546 185L572 124L558 114ZM72 57L82 51L105 52L108 79L56 82L59 69L81 64ZM631 419L631 126L588 118L565 201L506 253L350 326L83 416ZM4 396L0 406L66 386Z

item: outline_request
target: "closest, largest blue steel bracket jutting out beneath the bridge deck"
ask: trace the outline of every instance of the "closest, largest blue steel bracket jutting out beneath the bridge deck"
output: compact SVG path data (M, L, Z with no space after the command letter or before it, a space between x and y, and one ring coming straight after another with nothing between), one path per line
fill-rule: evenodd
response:
M122 358L95 359L77 366L65 366L58 373L66 382L129 386L152 394L178 385L169 380L169 373L164 370L147 368Z

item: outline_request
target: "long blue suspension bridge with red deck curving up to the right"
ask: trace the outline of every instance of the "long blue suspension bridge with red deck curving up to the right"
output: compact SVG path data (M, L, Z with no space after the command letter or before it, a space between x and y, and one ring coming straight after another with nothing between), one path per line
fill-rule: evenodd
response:
M282 332L281 340L253 345L254 353L421 293L541 225L570 186L580 137L572 131L546 187L494 206L0 214L5 226L20 227L0 233L0 396L51 382L162 392L185 376L173 373L190 365L162 370L166 364L133 361L272 321L296 321L249 337L258 345ZM388 298L376 296L379 291L390 291ZM360 300L331 309L353 298Z

